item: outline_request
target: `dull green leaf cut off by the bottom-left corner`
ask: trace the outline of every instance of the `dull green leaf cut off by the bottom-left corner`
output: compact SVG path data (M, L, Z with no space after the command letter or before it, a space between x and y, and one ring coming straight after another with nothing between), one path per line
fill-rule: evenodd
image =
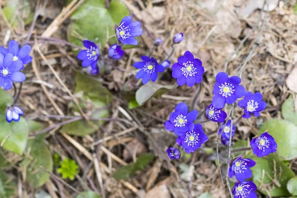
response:
M0 197L11 198L16 190L16 184L9 179L3 171L0 171Z

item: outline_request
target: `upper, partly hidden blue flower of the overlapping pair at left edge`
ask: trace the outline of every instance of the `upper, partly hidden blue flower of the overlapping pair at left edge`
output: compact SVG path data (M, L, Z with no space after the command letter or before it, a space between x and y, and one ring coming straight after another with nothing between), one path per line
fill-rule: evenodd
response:
M15 40L9 41L8 50L3 47L0 47L0 53L4 56L7 53L11 53L13 55L13 61L22 61L23 66L20 68L20 70L24 69L25 64L28 64L32 61L32 56L29 56L30 51L30 45L24 45L23 47L21 47L21 49L19 49L18 43Z

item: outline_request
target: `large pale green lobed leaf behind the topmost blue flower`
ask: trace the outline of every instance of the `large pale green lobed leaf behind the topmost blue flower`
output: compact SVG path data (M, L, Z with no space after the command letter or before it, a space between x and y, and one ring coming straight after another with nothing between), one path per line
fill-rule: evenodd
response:
M104 47L108 36L115 35L114 25L129 15L125 4L119 0L112 0L109 8L105 8L105 0L86 0L72 15L73 20L67 33L69 42L83 47L83 43L76 37L77 33L96 44ZM116 42L113 38L113 43Z

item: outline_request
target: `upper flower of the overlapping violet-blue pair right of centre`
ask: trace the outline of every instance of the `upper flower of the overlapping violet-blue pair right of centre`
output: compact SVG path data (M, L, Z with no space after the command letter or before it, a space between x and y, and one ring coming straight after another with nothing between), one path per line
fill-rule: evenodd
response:
M175 107L175 112L170 114L169 120L164 123L165 129L174 131L177 136L183 135L186 131L194 129L193 121L197 118L198 111L193 110L188 113L188 106L181 102Z

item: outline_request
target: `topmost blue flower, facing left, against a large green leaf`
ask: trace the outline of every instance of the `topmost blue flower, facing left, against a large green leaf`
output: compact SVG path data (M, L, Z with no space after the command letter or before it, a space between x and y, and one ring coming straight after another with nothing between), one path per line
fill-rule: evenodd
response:
M125 16L118 28L116 28L117 38L126 45L138 45L137 39L134 37L140 36L143 33L139 21L132 22L131 16Z

